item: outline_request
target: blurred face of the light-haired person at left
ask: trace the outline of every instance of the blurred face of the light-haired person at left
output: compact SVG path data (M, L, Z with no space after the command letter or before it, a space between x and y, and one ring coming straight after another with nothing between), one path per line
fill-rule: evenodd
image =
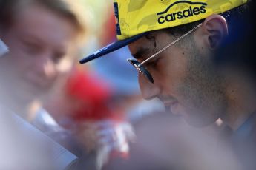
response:
M1 86L13 98L30 101L40 97L60 73L69 69L65 64L72 60L75 28L68 19L45 7L24 7L13 24L1 30L1 36L10 48L0 61Z

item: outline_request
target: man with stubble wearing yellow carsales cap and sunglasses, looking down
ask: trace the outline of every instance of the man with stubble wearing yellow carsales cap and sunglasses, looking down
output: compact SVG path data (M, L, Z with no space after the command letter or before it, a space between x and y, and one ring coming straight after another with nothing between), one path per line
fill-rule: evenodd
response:
M159 98L168 112L192 126L220 118L230 131L239 132L255 115L255 82L234 67L220 70L214 51L229 34L243 36L235 28L247 18L246 2L116 0L119 41L80 63L128 45L136 58L128 61L140 72L145 99Z

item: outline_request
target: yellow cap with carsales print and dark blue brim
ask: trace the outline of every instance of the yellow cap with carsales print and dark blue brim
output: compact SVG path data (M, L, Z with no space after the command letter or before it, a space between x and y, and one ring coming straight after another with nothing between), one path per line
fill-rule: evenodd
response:
M247 0L114 0L116 35L119 41L83 58L80 63L118 50L150 31L199 21L246 2Z

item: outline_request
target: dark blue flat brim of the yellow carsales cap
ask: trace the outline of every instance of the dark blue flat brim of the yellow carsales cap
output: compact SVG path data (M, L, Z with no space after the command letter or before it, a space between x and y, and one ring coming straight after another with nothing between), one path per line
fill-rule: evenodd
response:
M142 38L143 36L145 36L147 34L148 34L148 32L141 33L139 35L135 35L135 36L133 36L131 38L127 38L125 40L116 41L116 42L114 42L112 44L109 44L108 46L103 47L102 49L94 52L92 55L89 55L89 56L83 58L82 60L79 61L79 63L80 64L85 64L88 61L92 61L92 60L94 60L96 58L99 58L103 55L106 55L110 52L114 52L115 50L118 50L119 48L125 47L126 45L130 44L131 42L134 42L137 39Z

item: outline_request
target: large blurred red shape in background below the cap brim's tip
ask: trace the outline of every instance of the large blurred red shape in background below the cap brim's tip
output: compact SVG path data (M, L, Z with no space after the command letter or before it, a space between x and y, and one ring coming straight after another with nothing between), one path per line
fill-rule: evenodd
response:
M75 101L73 120L115 119L108 106L111 98L111 87L92 72L76 68L68 78L66 93Z

